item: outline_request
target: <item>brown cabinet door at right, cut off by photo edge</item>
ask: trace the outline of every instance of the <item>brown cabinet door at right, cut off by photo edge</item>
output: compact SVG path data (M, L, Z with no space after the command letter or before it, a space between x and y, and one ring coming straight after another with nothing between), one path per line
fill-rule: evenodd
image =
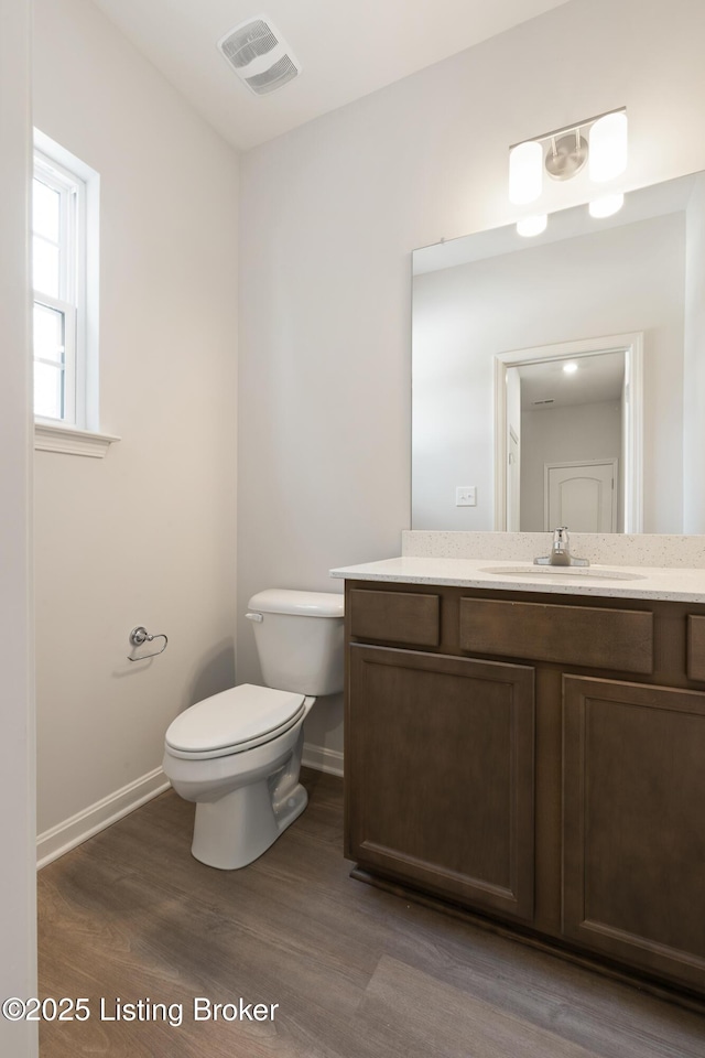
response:
M705 987L705 694L564 678L563 930Z

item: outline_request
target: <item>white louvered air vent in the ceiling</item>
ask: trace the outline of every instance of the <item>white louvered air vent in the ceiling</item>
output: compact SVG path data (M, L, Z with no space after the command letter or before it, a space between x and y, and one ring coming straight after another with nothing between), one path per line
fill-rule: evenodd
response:
M301 73L289 44L263 14L229 30L218 41L218 47L257 96L282 88Z

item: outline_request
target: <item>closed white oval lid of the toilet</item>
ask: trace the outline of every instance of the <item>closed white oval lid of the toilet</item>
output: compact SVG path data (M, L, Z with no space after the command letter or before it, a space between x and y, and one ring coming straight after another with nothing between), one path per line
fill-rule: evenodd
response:
M304 713L304 695L242 683L196 702L166 731L166 745L181 756L223 756L261 745L292 727Z

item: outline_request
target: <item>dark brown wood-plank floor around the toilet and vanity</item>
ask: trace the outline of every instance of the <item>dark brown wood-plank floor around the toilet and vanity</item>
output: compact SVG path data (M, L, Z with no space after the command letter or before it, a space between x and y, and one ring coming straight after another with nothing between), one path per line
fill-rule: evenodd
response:
M350 878L341 781L303 779L242 871L192 859L167 792L40 872L40 995L90 1008L44 1022L41 1058L703 1058L697 1013ZM194 997L279 1006L195 1021Z

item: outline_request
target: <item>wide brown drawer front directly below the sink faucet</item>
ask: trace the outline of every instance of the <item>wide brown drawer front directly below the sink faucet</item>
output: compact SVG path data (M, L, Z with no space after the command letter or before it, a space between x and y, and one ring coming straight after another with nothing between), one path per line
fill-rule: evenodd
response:
M643 611L462 598L459 637L474 654L653 670L653 615Z

